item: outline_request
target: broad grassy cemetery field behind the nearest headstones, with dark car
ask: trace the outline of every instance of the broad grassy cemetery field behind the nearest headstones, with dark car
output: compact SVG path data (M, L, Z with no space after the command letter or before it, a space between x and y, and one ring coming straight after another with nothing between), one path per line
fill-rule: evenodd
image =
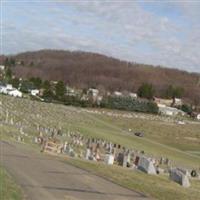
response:
M113 117L86 112L87 110L99 111L99 109L86 110L29 99L1 97L2 108L4 108L2 118L5 119L5 110L9 110L13 121L22 123L24 132L27 132L29 136L39 134L37 125L50 128L61 127L64 133L79 131L83 135L103 138L131 149L143 150L146 154L158 158L168 157L172 162L183 167L200 167L198 154L200 151L200 123L178 125L163 120L159 116L140 113L136 113L138 117L130 119ZM100 111L102 110L100 109ZM121 111L104 111L129 114ZM145 136L143 138L134 136L132 132L128 131L130 128L133 132L144 132ZM10 130L10 127L4 129L3 133L8 132L7 135L9 133L15 135L15 131ZM19 129L16 134L19 134ZM25 141L32 142L33 139L25 137Z

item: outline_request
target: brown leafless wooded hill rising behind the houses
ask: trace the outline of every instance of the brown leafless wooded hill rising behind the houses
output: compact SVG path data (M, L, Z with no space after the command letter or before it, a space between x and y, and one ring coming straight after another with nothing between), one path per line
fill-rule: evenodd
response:
M200 99L200 75L177 69L128 63L95 53L41 50L13 56L22 64L14 67L18 77L39 76L49 80L64 80L78 88L137 91L143 82L152 83L156 95L162 96L169 85L181 86L184 97L193 103Z

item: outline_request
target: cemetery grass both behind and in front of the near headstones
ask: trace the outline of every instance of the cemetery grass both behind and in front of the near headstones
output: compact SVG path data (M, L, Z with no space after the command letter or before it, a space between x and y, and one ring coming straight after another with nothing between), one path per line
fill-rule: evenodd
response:
M184 119L186 124L178 125L177 121L180 119L74 108L7 96L1 96L1 102L1 120L5 120L6 112L9 111L9 119L14 121L14 125L1 124L0 133L4 139L14 139L14 136L19 135L16 123L23 124L24 132L27 133L24 136L25 142L32 146L33 136L39 134L38 124L43 127L61 127L63 132L80 131L86 136L104 138L132 149L144 150L154 157L168 157L173 164L182 167L200 167L200 123L195 121ZM124 117L125 115L132 117ZM142 131L145 136L136 137L129 129ZM156 199L200 199L199 181L192 181L192 187L184 189L165 176L150 176L138 171L81 160L72 159L68 162Z

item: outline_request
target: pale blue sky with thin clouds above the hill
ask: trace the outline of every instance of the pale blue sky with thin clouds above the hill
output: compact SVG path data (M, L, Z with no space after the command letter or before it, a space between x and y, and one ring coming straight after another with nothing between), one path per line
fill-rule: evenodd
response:
M3 54L98 52L200 72L200 1L1 0Z

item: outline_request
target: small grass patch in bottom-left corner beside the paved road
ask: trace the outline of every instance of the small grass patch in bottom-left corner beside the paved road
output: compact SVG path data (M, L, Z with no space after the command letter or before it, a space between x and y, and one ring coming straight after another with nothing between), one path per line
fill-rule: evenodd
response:
M21 188L16 185L7 171L0 166L0 199L1 200L22 200Z

